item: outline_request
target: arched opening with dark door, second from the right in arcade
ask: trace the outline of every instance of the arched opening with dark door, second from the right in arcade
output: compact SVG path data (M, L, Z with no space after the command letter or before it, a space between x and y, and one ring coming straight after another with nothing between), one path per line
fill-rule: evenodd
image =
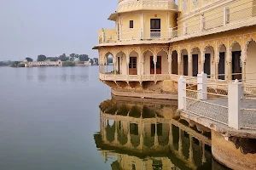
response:
M234 42L231 46L232 52L232 80L241 80L241 46L238 42Z

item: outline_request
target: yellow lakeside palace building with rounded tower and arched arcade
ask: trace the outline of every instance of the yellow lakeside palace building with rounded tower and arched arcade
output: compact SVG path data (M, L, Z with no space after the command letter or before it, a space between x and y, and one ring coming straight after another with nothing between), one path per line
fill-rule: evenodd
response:
M253 84L255 16L256 0L119 0L115 28L98 31L94 47L100 80L115 95L157 99L177 99L178 77L201 71Z

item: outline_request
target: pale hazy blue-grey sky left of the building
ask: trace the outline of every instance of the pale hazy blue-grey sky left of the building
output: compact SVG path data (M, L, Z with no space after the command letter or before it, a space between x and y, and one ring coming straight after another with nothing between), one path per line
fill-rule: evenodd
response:
M0 0L0 60L89 54L118 0Z

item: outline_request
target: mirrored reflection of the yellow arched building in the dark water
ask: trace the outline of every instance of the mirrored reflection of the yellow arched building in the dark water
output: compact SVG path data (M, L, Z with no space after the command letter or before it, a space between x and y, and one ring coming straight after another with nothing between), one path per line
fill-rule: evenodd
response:
M212 159L210 130L181 119L170 101L116 98L100 105L94 135L112 169L224 169Z

